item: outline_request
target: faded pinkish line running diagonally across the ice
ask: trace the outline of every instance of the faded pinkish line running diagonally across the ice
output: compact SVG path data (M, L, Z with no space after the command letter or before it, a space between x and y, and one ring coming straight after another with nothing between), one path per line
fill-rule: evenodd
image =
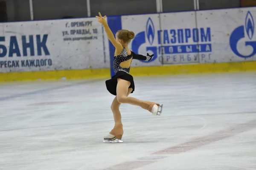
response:
M152 153L151 156L144 156L144 157L137 158L138 160L141 160L141 161L127 161L121 164L113 165L104 170L120 170L120 169L134 170L136 168L140 168L140 167L155 163L157 162L157 160L165 159L168 157L168 155L184 153L189 150L193 150L193 149L202 147L204 145L217 142L231 136L235 136L239 133L243 133L248 130L253 130L254 128L256 128L256 119L243 124L234 125L227 129L209 134L207 136L202 136L201 138L197 138L197 139L176 145L174 147L169 147L164 150L159 150L155 153ZM223 166L227 168L230 167L230 165L223 165ZM236 166L232 166L232 167L236 167ZM244 167L236 167L236 168L245 169Z

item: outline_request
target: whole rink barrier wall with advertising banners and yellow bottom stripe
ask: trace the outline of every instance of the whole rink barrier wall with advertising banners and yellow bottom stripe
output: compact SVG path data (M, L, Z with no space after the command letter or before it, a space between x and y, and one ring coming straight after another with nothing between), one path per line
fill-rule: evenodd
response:
M131 74L254 71L256 7L109 16L134 31L129 48L154 54L133 60ZM0 81L109 78L115 48L93 18L0 23Z

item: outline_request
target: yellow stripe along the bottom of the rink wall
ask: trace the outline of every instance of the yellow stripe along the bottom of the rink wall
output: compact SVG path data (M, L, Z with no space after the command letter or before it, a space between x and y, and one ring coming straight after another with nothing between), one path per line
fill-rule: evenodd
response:
M166 74L198 74L233 71L256 71L256 61L253 62L230 62L230 63L207 63L189 65L164 65L150 67L131 67L130 74L133 76L166 75ZM109 68L63 70L63 71L34 71L0 73L0 81L30 81L30 80L53 80L61 79L84 79L84 78L110 78Z

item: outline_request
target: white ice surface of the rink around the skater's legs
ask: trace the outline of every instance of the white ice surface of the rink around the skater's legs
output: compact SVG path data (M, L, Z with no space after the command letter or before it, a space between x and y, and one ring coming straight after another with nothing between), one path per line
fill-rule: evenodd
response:
M0 84L0 170L256 170L256 72L134 77L123 143L105 79Z

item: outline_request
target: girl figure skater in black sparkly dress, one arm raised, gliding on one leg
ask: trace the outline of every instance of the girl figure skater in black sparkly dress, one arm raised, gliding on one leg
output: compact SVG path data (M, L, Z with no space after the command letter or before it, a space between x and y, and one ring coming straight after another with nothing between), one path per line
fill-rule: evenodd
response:
M115 126L107 136L104 136L103 142L122 142L123 126L121 113L119 111L121 103L140 106L141 108L151 112L153 115L161 115L162 113L163 105L160 106L155 102L142 101L128 96L130 93L134 92L135 88L133 77L129 74L132 59L149 61L154 54L147 54L147 56L135 54L128 48L128 44L132 39L134 39L134 32L123 29L119 30L116 33L115 39L107 21L105 20L106 16L102 17L99 12L99 16L96 17L98 18L99 23L102 23L104 26L108 39L116 48L113 61L115 75L106 81L108 91L116 96L111 105Z

